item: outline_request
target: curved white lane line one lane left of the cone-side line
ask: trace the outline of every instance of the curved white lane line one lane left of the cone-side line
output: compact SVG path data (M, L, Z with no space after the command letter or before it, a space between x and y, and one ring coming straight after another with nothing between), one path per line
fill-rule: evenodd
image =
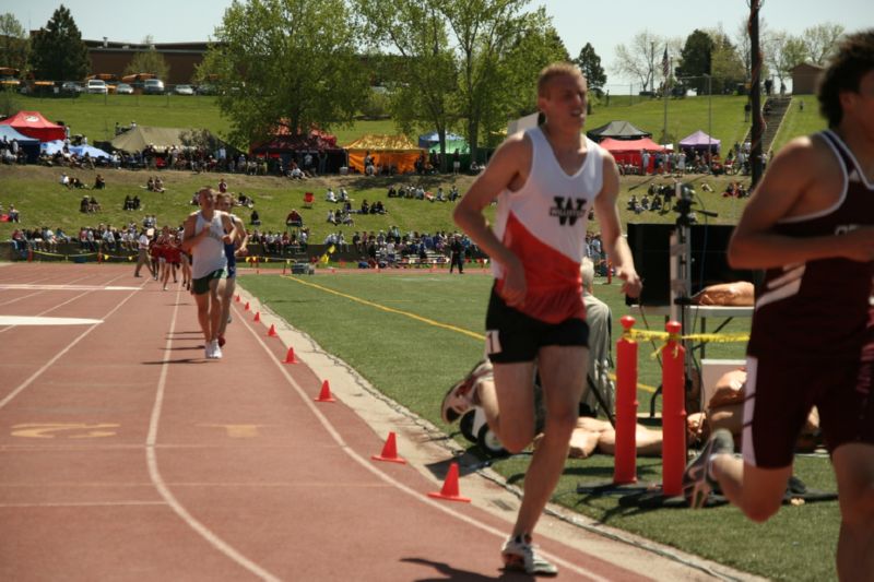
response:
M200 534L203 539L205 539L210 545L212 545L215 549L237 562L239 566L251 572L252 574L261 578L262 580L269 580L271 582L279 582L280 578L275 577L274 574L268 572L249 558L237 551L233 546L231 546L227 542L218 537L215 533L212 532L209 527L203 525L197 519L194 519L191 513L182 506L176 497L174 497L173 492L167 487L167 484L164 483L164 478L161 476L161 472L157 468L157 455L155 453L156 450L156 441L157 441L157 428L161 424L161 411L164 405L164 392L167 387L167 372L169 371L169 357L173 347L173 334L176 330L176 318L179 313L179 297L181 293L180 290L176 292L176 305L173 308L173 319L170 320L170 332L167 334L167 345L166 352L164 355L164 364L161 367L161 378L157 382L157 393L155 394L155 404L152 407L152 417L149 421L149 436L146 437L145 441L145 460L146 464L149 465L149 476L152 479L152 483L157 489L158 494L162 498L167 502L167 504L173 509L173 511L186 523L189 527L194 530L198 534Z

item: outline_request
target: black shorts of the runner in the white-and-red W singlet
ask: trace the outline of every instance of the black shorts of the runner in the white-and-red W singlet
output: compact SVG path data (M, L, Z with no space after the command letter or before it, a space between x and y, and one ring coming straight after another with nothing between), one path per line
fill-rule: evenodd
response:
M486 353L493 364L533 361L540 348L547 345L589 347L589 325L571 318L560 323L546 323L512 307L492 287L485 316Z

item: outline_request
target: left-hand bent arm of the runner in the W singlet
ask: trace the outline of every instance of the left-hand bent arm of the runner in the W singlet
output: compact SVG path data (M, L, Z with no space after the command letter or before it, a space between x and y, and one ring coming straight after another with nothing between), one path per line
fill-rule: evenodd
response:
M519 258L488 227L483 210L504 190L516 191L524 186L531 168L532 150L531 141L524 134L517 133L508 138L452 213L456 224L471 240L504 268L503 296L511 307L519 307L524 302L524 270Z

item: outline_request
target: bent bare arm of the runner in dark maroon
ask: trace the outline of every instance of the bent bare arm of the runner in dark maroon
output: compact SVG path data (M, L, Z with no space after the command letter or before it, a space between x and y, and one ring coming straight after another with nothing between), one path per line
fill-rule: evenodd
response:
M744 209L729 244L729 263L735 269L768 269L830 257L874 259L874 229L870 227L806 238L772 231L780 219L831 207L843 180L837 157L822 138L790 142L773 158Z

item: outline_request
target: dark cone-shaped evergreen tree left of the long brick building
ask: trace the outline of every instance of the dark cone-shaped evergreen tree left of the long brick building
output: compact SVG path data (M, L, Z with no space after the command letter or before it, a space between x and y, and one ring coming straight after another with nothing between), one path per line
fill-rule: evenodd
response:
M31 67L36 79L51 81L79 81L88 74L88 49L63 4L32 38Z

